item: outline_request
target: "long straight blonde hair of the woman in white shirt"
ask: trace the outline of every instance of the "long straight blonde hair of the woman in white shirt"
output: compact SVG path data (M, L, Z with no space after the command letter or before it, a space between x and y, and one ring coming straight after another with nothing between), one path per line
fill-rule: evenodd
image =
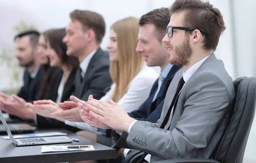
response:
M110 75L116 83L116 89L111 97L119 101L127 92L132 79L140 72L143 65L143 56L136 52L139 33L139 20L128 17L115 22L111 29L117 35L118 61L111 61Z

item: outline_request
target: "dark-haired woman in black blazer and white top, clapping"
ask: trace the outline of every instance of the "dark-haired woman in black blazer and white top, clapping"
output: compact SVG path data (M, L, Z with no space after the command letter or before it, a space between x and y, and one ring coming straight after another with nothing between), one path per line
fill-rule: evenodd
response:
M66 125L42 113L41 106L58 105L59 102L67 101L75 89L74 79L76 70L79 67L79 61L76 57L67 56L67 46L62 42L66 35L65 28L52 29L47 32L47 51L46 54L50 60L51 67L60 67L52 76L49 87L45 93L45 100L34 101L34 105L26 103L36 113L35 123L39 127L65 127ZM57 123L56 123L57 122ZM70 127L69 130L73 130ZM73 130L74 131L74 130Z

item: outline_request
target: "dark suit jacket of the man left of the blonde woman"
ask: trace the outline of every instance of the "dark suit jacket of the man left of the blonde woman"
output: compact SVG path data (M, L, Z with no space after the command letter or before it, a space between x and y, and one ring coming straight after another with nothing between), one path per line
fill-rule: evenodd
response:
M75 89L73 95L84 101L87 101L89 95L93 95L93 98L99 99L108 92L111 87L112 80L109 73L109 54L108 52L102 51L99 48L93 55L89 62L83 81L81 82L81 70L78 69L74 79ZM61 79L60 79L61 80ZM58 91L58 88L56 92ZM52 91L50 90L50 93ZM48 94L48 93L47 93ZM67 101L70 98L62 98L61 101ZM57 98L57 97L56 97ZM53 100L52 100L53 101ZM56 99L55 99L56 101ZM64 122L52 119L44 118L37 115L37 124L39 127L64 127L72 132L76 132L79 129L66 125Z

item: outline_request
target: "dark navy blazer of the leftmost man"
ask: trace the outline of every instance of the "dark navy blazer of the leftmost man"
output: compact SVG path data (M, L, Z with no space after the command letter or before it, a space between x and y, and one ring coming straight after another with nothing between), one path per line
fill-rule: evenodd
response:
M23 75L24 84L23 87L20 88L20 92L17 94L17 96L23 98L26 102L37 100L43 76L44 72L42 67L39 68L34 79L30 77L29 71L26 69Z

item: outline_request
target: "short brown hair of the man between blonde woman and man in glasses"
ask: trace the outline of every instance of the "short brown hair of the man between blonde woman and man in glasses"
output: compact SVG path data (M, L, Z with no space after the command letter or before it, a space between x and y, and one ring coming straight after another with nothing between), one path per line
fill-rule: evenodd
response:
M157 30L156 37L161 42L166 35L166 27L170 22L170 18L168 8L157 8L140 17L139 25L154 24Z

